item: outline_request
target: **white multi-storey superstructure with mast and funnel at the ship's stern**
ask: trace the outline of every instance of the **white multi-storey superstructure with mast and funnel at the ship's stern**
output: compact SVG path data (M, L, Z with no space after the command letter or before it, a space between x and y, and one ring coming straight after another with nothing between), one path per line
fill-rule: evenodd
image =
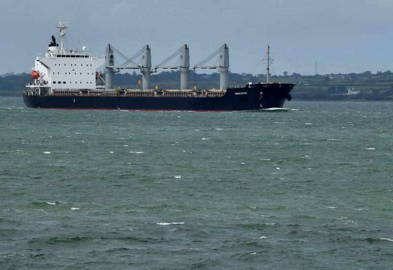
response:
M96 89L96 70L104 64L104 58L94 58L83 47L82 50L64 49L67 23L59 23L61 47L52 36L45 56L38 56L34 61L31 77L34 82L27 87L39 93L53 93L54 90ZM38 72L38 73L37 73Z

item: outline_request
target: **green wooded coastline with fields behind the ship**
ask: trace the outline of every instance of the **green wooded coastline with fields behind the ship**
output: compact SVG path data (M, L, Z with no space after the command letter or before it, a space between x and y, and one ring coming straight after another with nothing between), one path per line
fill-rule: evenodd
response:
M105 78L105 74L104 74ZM292 73L288 75L271 75L271 81L281 83L294 83L292 90L293 100L393 100L393 72L378 71L372 73L326 74L326 75L301 75ZM141 75L137 72L115 74L114 84L121 88L138 88ZM28 73L0 75L0 95L21 95L25 85L31 82ZM220 74L195 73L189 76L190 89L218 88ZM229 85L245 85L248 82L266 81L266 74L230 73ZM164 71L152 74L151 88L158 85L161 89L177 89L180 86L180 72Z

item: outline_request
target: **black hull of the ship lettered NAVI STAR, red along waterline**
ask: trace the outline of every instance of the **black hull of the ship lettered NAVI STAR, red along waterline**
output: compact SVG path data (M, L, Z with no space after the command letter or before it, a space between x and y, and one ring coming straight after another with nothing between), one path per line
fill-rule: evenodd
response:
M290 100L293 84L253 84L228 88L221 97L163 96L97 96L97 95L32 95L24 93L30 108L97 109L97 110L163 110L163 111L250 111L282 108Z

